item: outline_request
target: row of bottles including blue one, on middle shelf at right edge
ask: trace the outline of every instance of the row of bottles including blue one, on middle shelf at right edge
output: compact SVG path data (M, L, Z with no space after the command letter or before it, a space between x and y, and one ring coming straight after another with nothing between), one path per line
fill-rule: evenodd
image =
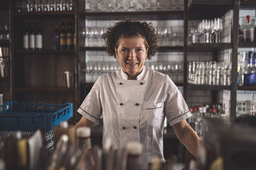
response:
M256 85L256 52L237 53L237 83L238 85ZM246 62L247 61L247 62Z

